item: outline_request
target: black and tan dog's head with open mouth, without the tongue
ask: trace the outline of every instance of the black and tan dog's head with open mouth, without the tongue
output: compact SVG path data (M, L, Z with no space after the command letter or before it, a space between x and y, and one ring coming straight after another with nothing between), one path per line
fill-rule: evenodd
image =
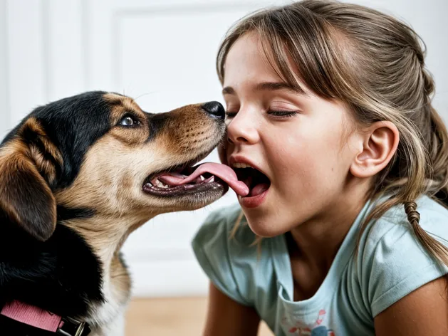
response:
M131 98L97 91L38 107L1 144L0 219L45 241L58 221L76 217L137 225L198 209L219 199L226 184L198 177L170 185L157 177L189 174L182 171L224 132L224 109L213 102L151 114Z

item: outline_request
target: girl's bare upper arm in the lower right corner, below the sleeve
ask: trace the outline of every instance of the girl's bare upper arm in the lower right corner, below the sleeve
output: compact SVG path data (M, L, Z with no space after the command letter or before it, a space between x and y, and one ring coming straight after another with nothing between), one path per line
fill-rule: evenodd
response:
M447 279L423 285L378 314L375 335L448 335Z

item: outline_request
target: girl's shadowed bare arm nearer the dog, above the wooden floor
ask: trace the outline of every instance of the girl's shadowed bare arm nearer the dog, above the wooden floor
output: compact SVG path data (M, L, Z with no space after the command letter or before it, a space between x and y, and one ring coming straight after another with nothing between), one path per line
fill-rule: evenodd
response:
M210 283L204 336L256 336L259 324L254 308L237 303Z

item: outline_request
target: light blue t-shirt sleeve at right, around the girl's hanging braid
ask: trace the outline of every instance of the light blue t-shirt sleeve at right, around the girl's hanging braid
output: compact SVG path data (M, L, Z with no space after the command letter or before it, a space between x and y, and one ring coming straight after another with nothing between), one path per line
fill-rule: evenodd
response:
M434 211L422 213L420 225L447 245L447 217L433 215ZM413 290L448 273L446 266L424 250L407 220L381 221L376 225L361 260L373 317Z

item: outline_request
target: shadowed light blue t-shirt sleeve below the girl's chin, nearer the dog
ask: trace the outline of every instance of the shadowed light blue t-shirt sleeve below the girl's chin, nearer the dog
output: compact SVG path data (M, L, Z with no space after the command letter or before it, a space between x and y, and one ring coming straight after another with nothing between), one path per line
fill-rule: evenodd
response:
M202 270L222 293L241 305L251 305L236 281L233 251L229 247L231 228L239 211L234 208L229 213L229 209L222 209L210 214L194 236L192 248Z

